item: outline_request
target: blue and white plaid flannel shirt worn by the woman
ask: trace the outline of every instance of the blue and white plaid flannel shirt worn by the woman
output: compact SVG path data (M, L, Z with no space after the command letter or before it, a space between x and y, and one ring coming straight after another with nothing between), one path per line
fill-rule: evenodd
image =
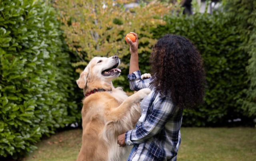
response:
M152 91L140 104L141 117L136 128L125 134L126 145L134 145L128 161L176 161L183 110L176 108L169 96L160 96L149 86L152 78L140 77L140 71L128 75L131 90Z

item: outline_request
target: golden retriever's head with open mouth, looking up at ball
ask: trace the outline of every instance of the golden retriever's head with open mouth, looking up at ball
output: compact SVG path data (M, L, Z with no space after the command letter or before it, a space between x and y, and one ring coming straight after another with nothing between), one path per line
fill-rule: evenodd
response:
M118 56L94 57L80 74L76 81L79 88L85 88L89 82L106 83L120 75L121 70L117 69L120 64Z

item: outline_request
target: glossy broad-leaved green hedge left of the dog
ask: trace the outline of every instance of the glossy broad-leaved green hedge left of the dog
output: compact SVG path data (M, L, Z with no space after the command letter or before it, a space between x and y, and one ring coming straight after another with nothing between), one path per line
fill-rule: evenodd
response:
M59 26L42 0L0 2L0 157L32 151L80 118Z

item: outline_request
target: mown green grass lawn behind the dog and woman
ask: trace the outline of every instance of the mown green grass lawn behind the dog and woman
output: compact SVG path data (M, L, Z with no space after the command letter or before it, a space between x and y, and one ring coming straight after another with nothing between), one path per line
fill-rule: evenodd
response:
M256 128L182 128L178 161L256 161ZM75 161L82 130L43 139L23 161Z

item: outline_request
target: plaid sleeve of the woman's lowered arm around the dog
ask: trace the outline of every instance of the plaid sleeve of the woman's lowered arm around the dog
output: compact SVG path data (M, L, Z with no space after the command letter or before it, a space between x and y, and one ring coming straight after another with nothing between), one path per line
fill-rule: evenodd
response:
M145 122L137 126L134 130L126 132L126 145L142 143L146 139L158 134L173 114L174 108L175 106L169 97L160 98L152 107L152 111Z

